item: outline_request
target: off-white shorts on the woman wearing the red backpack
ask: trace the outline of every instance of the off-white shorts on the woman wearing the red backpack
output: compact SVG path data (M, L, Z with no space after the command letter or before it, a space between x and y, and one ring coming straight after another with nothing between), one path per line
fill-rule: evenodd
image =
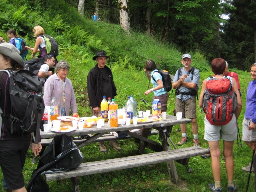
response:
M206 141L234 141L237 139L236 116L226 125L212 125L204 117L204 139Z

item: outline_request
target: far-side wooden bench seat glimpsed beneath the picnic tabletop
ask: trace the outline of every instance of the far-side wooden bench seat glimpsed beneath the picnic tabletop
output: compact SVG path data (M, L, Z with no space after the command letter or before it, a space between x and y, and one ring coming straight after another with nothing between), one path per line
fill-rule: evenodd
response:
M156 130L152 130L151 133L149 135L157 135L158 131ZM97 138L94 142L104 142L104 141L111 141L111 140L120 140L120 139L130 139L130 138L134 138L133 136L126 136L123 138L117 138L116 136L112 135L112 134L104 134L101 137ZM80 144L82 142L84 142L86 139L76 139L73 140L75 144ZM42 139L41 140L41 145L42 146L48 146L50 143L52 142L52 138L49 139Z

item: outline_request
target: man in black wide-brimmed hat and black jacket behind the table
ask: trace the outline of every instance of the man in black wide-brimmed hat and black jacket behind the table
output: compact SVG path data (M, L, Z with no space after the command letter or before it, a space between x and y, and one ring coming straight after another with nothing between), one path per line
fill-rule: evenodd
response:
M97 64L90 70L87 76L87 91L89 96L90 108L92 115L98 117L100 115L100 103L103 96L106 98L114 98L116 96L116 86L113 81L113 74L110 68L106 66L106 59L110 58L103 50L97 51L96 56L92 60L96 60ZM110 141L109 144L116 150L122 149L118 146L118 142ZM99 142L100 151L107 153L108 150L104 142Z

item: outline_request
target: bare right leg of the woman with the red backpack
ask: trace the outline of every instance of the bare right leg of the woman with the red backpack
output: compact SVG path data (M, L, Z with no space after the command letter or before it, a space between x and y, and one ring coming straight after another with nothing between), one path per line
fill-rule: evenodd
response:
M225 167L228 180L233 180L234 178L233 145L234 141L223 141L223 155L225 157Z

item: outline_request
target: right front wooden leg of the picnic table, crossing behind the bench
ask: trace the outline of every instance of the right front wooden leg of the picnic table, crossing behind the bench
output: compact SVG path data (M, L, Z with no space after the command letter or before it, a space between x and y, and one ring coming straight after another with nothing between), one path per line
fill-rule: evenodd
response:
M161 138L162 147L164 151L172 150L170 148L170 145L167 141L166 134L164 134L162 129L159 129L159 136ZM167 161L167 168L170 174L170 179L172 183L179 184L178 174L176 170L176 166L174 164L174 161Z

